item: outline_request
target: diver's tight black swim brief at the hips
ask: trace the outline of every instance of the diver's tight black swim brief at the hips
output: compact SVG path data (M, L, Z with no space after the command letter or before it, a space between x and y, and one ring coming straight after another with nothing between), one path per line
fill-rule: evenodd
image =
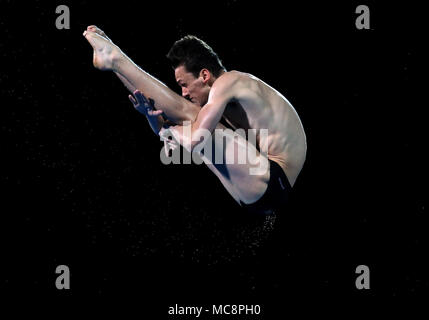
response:
M259 214L273 214L276 210L284 207L289 200L292 186L277 162L268 160L270 163L270 180L267 190L256 202L250 204L242 203L243 208Z

